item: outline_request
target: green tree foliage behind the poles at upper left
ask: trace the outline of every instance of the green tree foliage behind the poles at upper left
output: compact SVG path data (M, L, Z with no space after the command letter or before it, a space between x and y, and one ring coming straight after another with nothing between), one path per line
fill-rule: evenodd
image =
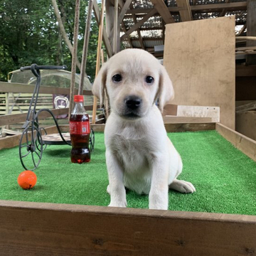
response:
M65 31L73 41L75 1L58 0ZM87 19L87 1L80 4L78 58L82 58L82 44ZM92 15L87 75L95 76L97 23ZM0 80L21 66L67 65L71 69L71 54L60 36L50 0L0 0ZM77 70L79 72L79 70Z

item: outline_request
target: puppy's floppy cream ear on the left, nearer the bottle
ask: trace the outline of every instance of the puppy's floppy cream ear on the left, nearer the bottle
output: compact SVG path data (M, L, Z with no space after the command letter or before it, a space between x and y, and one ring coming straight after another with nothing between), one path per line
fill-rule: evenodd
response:
M103 105L105 97L105 88L107 80L107 63L102 65L92 85L92 94L100 99L100 105Z

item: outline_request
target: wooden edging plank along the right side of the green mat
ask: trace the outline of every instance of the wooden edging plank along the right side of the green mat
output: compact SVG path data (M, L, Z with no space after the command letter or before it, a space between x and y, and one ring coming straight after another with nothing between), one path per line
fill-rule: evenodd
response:
M235 132L233 129L225 127L225 125L216 123L216 131L231 142L237 149L256 161L256 142L245 135Z

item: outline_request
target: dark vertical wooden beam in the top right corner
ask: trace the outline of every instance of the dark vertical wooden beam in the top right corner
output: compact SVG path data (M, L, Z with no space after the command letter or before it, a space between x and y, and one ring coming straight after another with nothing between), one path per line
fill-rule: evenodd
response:
M256 36L256 1L247 0L247 35ZM256 46L256 41L247 40L246 46ZM247 55L247 64L256 64L256 55Z

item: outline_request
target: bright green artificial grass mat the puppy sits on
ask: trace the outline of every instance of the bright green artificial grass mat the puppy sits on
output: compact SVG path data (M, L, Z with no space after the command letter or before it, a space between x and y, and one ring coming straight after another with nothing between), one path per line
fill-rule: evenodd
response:
M215 131L169 133L183 159L179 179L196 193L169 191L169 210L256 215L256 163ZM29 158L31 161L31 159ZM23 171L18 147L0 150L0 199L107 206L104 134L95 134L87 164L70 162L70 146L47 146L31 190L18 186ZM148 196L127 192L128 207L148 208Z

